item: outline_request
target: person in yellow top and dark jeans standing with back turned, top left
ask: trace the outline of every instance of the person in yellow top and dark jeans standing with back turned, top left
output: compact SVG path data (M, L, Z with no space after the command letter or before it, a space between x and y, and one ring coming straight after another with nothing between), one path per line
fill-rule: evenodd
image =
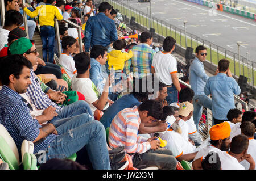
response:
M52 5L53 2L55 2L55 0L46 0L46 5L36 7L36 10L33 12L23 6L23 11L25 11L31 18L39 15L40 32L43 44L43 60L47 62L47 54L49 54L48 62L51 63L53 63L54 58L54 16L56 16L58 20L63 19L63 16L60 14L57 7Z

